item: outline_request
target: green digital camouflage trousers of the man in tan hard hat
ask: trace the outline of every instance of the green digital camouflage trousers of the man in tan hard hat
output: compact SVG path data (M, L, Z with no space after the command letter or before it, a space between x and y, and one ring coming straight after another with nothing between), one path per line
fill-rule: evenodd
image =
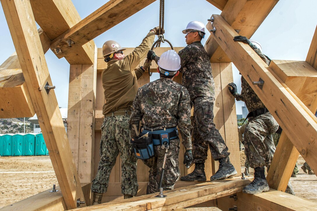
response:
M130 143L129 119L130 116L126 113L126 115L105 117L102 123L102 137L100 141L101 158L97 175L91 186L93 192L107 192L109 175L119 152L122 160L121 193L123 195L134 196L138 192L139 185L136 175L137 158L132 151L132 144Z

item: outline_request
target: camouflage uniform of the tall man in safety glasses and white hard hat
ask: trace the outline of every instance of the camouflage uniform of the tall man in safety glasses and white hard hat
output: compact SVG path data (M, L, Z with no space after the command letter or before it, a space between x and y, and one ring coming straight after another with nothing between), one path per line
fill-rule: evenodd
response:
M215 82L210 60L204 46L196 41L180 50L183 85L194 103L193 163L205 163L208 145L214 160L228 156L224 143L213 122Z

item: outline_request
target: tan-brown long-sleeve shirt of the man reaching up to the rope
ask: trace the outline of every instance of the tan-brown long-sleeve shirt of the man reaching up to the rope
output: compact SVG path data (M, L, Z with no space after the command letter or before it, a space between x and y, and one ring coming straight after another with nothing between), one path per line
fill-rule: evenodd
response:
M154 37L154 32L150 31L131 54L122 60L109 61L107 68L102 71L102 86L106 100L102 109L103 115L132 106L138 92L137 80L143 74L140 68L136 71L134 69L151 49Z

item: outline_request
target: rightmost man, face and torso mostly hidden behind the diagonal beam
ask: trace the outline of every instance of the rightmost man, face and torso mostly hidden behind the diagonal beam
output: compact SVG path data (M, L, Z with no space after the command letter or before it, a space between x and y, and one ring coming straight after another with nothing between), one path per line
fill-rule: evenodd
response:
M269 65L270 59L262 53L260 43L249 40L244 36L235 36L233 40L248 44L256 54ZM249 166L254 169L254 180L244 187L242 192L259 194L269 190L268 182L265 178L264 166L269 168L273 159L276 148L272 134L277 131L279 125L243 77L241 77L241 94L237 92L235 83L232 82L228 85L229 91L236 100L244 101L250 111L246 117L249 123L244 128L243 141ZM287 193L295 195L289 182Z

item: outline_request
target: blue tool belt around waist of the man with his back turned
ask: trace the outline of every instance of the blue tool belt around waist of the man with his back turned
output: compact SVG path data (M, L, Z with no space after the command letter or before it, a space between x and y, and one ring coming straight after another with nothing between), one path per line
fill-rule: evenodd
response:
M152 134L153 145L159 146L164 145L164 142L170 144L170 140L178 138L178 130L176 127L161 129L161 130L143 130L140 136L146 133Z

